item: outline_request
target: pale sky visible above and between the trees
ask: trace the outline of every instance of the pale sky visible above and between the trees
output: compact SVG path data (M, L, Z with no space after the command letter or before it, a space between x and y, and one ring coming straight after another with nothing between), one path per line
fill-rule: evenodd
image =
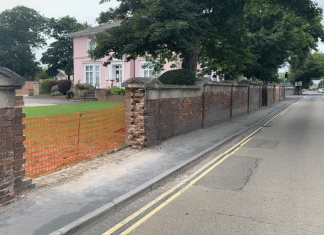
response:
M60 18L64 16L74 16L78 22L87 22L92 26L98 25L96 18L100 12L106 11L109 7L118 6L117 0L110 0L104 4L99 4L100 0L0 0L0 12L22 5L38 11L46 17ZM318 6L324 9L324 0L315 0ZM322 20L324 25L324 20ZM36 51L36 59L41 58L41 54L47 48ZM324 52L324 44L319 43L318 49ZM282 68L279 72L286 71Z

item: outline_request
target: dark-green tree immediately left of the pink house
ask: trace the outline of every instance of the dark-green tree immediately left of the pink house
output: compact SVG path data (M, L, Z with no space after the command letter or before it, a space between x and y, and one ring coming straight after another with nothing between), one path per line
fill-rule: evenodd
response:
M58 69L70 77L73 74L73 40L67 34L88 28L87 23L79 23L74 17L65 16L49 20L50 36L56 41L43 53L41 62L48 65L47 74L54 77Z

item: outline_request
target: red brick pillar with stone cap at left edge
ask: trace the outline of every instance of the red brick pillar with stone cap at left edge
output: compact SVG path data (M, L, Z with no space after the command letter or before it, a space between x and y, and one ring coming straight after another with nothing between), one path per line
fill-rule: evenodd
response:
M24 171L23 97L15 98L15 90L24 82L17 74L0 67L0 204L33 187Z

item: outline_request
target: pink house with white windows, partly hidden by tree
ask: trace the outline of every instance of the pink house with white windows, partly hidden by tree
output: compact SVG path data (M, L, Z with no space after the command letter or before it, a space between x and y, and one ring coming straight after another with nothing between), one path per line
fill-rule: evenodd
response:
M88 55L88 50L95 48L91 37L114 26L120 21L104 24L69 34L73 38L74 84L90 83L96 88L121 87L121 83L133 77L152 77L153 69L143 68L148 64L144 58L127 62L126 60L113 60L107 67L103 63L107 57L93 61ZM164 66L164 71L170 70L171 64Z

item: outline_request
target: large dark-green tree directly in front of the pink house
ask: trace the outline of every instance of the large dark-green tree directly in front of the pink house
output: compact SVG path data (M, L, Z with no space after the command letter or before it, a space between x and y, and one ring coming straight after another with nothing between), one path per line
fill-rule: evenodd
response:
M131 60L147 55L164 63L178 55L182 68L193 72L199 60L205 71L217 66L228 71L243 70L260 54L251 51L255 38L247 37L251 34L247 12L257 15L259 6L272 9L275 5L306 20L321 13L311 0L120 0L117 8L110 8L98 18L99 23L122 20L120 26L96 36L97 47L91 56L108 56L109 64L113 58Z

